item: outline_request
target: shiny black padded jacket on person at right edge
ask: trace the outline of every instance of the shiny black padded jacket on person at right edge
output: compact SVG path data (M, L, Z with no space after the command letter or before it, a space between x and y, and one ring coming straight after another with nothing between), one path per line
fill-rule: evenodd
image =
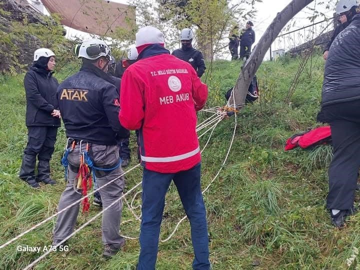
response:
M325 63L321 106L360 99L360 14L332 42Z

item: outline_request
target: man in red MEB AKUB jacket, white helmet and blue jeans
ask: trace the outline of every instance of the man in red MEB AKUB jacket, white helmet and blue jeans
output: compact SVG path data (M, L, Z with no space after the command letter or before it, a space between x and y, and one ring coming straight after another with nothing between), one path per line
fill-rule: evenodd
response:
M137 269L155 269L165 194L174 181L190 220L194 269L209 269L206 210L200 189L200 150L196 111L207 98L207 86L192 66L164 48L160 30L136 33L137 61L121 80L119 120L139 129L142 220Z

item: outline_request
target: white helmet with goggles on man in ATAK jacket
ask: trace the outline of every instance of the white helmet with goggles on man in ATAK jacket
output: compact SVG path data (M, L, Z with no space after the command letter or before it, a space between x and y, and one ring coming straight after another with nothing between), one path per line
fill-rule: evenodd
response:
M82 42L77 57L96 60L101 56L104 56L110 60L110 49L103 40L92 38Z

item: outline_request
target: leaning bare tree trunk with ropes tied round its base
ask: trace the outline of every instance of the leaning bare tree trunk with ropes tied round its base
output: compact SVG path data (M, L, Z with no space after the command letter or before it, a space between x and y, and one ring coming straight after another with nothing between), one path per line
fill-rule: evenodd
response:
M229 99L231 106L234 105L232 95L235 97L236 108L240 108L245 103L248 86L260 66L266 51L286 23L312 1L313 0L292 0L281 12L277 13L276 17L256 44L250 57L241 67L239 77L237 78L236 85Z

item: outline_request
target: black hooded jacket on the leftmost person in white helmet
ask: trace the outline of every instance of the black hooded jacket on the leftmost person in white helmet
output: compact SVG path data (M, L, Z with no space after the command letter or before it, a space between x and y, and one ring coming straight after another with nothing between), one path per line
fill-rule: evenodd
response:
M40 68L36 62L24 77L26 94L26 126L60 126L60 119L51 116L58 107L56 99L57 80L52 72Z

